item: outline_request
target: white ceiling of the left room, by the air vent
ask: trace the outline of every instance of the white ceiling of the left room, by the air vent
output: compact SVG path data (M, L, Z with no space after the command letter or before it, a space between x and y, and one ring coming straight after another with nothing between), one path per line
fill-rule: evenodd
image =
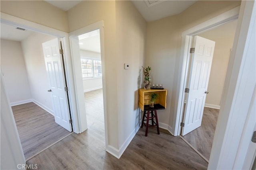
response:
M12 41L22 41L30 36L33 31L16 29L15 26L1 23L1 39L8 39Z

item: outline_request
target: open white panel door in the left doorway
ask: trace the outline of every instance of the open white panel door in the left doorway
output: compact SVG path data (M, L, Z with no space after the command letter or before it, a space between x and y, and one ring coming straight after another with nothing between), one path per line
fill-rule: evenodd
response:
M72 131L70 121L70 111L68 96L65 90L66 80L62 55L58 38L42 43L44 50L44 61L46 65L47 77L52 96L55 122L68 131Z

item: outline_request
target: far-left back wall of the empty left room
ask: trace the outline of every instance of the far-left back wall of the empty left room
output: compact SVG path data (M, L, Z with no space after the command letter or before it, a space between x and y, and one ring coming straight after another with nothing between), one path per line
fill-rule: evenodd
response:
M1 68L11 105L30 102L32 96L20 42L1 39Z

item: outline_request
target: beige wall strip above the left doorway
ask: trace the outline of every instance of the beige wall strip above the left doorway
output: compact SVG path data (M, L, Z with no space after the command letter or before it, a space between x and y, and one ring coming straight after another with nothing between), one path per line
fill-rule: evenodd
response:
M43 0L1 0L3 13L69 32L67 13Z

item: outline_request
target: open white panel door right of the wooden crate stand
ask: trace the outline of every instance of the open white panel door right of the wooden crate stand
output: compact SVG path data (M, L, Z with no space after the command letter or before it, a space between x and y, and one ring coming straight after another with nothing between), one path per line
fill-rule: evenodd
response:
M214 46L214 41L199 36L194 38L182 135L201 126Z

